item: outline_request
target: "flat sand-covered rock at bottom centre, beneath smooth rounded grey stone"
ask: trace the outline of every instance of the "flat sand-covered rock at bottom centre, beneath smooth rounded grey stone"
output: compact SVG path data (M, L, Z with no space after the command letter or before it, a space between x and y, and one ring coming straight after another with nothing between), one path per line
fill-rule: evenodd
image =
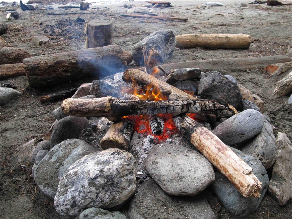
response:
M154 180L139 186L129 204L127 215L130 219L216 218L203 195L170 196Z

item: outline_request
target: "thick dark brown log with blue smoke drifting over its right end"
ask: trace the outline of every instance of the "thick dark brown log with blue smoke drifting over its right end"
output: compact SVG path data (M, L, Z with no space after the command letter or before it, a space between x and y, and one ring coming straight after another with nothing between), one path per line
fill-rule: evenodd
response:
M44 87L88 76L102 78L126 68L118 45L40 55L23 60L30 86Z

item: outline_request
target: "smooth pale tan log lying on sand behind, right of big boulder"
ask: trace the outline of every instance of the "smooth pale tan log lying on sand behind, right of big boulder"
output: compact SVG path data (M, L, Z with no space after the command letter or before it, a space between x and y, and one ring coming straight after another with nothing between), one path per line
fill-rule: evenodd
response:
M246 34L183 34L175 36L178 48L247 49L251 36Z

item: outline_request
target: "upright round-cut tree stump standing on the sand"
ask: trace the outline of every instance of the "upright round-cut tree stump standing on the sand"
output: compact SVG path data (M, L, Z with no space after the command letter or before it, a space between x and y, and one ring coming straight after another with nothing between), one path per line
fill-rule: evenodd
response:
M110 20L93 20L85 27L86 48L112 45L112 22Z

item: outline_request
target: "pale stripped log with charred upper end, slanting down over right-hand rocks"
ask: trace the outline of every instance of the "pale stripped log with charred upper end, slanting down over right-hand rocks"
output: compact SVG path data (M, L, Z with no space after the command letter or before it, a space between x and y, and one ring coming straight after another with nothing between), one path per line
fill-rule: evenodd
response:
M260 197L262 183L253 174L253 169L216 135L186 115L174 117L173 122L244 197Z

